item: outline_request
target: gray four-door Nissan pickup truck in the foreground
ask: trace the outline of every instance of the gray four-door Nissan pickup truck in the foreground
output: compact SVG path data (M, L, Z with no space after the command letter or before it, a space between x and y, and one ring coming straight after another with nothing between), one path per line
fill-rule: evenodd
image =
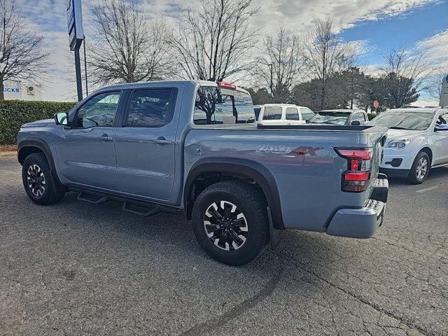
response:
M104 87L55 120L22 125L29 198L67 191L149 216L183 212L211 257L243 265L280 230L368 238L381 225L386 127L259 126L251 96L195 80Z

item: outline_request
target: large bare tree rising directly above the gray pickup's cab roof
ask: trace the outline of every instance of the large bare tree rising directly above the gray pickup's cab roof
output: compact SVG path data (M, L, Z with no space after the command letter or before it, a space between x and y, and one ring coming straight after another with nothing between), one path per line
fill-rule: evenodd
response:
M258 34L249 26L259 10L254 2L200 0L183 13L172 43L182 77L223 80L248 69Z

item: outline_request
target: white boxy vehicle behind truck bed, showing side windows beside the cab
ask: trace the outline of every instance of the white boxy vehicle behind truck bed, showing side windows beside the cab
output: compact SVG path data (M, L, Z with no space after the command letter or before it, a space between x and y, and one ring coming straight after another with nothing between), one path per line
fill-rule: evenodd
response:
M312 116L314 116L314 112L304 106L265 104L260 110L258 123L262 125L303 125Z

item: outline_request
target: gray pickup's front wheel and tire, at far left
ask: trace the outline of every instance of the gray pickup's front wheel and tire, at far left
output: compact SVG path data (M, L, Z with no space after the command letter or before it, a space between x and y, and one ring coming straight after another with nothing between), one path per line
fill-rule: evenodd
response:
M22 182L31 201L50 205L62 200L65 188L52 175L43 153L28 155L22 165Z

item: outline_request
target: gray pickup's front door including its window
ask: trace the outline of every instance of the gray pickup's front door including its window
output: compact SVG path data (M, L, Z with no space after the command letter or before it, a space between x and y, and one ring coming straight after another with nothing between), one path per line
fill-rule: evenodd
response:
M120 91L96 94L71 117L71 128L56 132L57 162L61 174L85 186L118 190L114 120Z

